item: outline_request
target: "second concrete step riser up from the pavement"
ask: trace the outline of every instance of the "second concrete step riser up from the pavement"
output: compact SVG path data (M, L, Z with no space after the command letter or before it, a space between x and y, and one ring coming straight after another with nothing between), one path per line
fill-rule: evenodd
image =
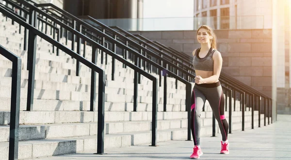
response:
M263 117L263 115L261 116ZM258 119L258 116L254 117ZM40 124L40 125L20 125L19 140L37 140L45 138L66 138L85 135L97 135L97 122L84 123L63 123ZM212 126L212 118L202 118L202 127ZM245 116L245 122L251 121L251 116ZM158 120L157 129L169 130L187 128L188 119L166 119ZM232 124L242 123L242 117L233 116ZM217 125L217 122L216 122ZM123 122L105 122L105 134L123 133L123 132L139 132L151 131L152 122L147 121L123 121ZM0 126L0 142L9 140L9 126Z

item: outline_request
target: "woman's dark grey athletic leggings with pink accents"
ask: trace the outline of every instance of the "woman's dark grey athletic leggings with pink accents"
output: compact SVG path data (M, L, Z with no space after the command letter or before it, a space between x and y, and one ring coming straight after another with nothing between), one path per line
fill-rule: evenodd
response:
M195 84L191 97L191 131L194 145L200 145L200 116L206 100L208 100L218 122L222 140L227 140L228 123L224 115L225 99L220 83Z

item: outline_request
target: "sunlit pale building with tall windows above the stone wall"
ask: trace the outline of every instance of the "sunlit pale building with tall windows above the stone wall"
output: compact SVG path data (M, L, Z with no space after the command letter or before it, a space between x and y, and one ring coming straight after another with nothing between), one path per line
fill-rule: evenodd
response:
M272 0L194 0L194 26L271 29Z

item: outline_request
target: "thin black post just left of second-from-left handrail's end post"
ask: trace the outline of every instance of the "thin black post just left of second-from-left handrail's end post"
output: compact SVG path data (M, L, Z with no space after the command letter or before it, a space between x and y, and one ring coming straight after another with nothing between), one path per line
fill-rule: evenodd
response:
M97 63L96 55L97 55L97 48L96 46L92 45L92 63L94 64ZM90 111L95 111L95 104L96 104L96 71L91 70Z

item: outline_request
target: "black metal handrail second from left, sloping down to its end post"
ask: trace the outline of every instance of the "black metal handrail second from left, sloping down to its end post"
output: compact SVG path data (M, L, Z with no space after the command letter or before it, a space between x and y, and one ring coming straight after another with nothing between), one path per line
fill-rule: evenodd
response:
M29 80L28 80L28 98L27 98L27 110L30 111L33 106L33 91L34 91L34 73L35 73L35 59L36 59L36 36L39 36L49 42L50 44L55 45L62 51L64 51L66 54L72 56L73 58L78 59L81 63L86 65L87 67L91 68L92 74L96 75L96 72L99 76L99 85L98 85L98 134L97 134L97 140L98 140L98 148L104 148L104 101L105 101L105 73L104 71L97 67L94 63L86 60L85 58L81 57L80 55L76 54L75 52L71 51L64 45L56 42L55 40L51 39L46 34L42 33L41 31L37 30L30 24L26 23L22 19L18 18L16 15L10 13L6 9L4 9L2 6L0 6L0 12L7 17L14 20L19 25L23 26L24 28L29 30L29 39L28 39L28 55L31 60L31 64L29 67ZM36 19L36 14L33 14L34 16L30 16L30 20ZM33 17L33 18L32 18ZM94 49L93 49L94 50ZM95 49L96 51L96 49ZM91 103L95 106L95 95L96 95L96 76L91 77L91 95L94 95L94 97L91 96ZM90 108L91 111L93 111L94 108Z

